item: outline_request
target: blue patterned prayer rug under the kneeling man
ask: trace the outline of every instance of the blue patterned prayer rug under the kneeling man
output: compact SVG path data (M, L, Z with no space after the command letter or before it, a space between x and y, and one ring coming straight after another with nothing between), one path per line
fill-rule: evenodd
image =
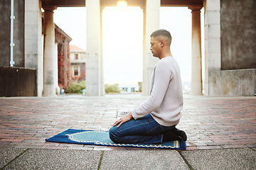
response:
M108 132L95 130L74 130L68 129L49 139L47 142L61 142L83 145L101 145L111 147L142 147L154 149L186 149L186 142L176 140L172 142L164 142L158 145L142 145L142 144L117 144L110 140Z

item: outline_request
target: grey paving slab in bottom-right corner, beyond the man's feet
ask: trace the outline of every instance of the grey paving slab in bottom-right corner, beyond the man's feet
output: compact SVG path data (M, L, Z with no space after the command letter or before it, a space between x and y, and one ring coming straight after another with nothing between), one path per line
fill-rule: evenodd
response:
M193 169L256 169L256 150L207 149L182 151Z

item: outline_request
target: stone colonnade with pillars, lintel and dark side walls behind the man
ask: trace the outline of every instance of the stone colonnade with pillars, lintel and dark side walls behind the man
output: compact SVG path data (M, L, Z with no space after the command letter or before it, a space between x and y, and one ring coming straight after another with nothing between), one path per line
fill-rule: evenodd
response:
M126 0L144 13L142 92L149 91L149 79L157 60L149 50L150 34L159 29L161 6L187 6L192 13L191 94L206 96L255 96L256 94L256 1L255 0ZM116 6L117 0L21 0L14 4L14 66L36 69L37 96L54 96L58 63L54 39L53 12L57 7L85 6L87 21L86 91L101 96L104 90L102 67L102 9ZM42 28L42 12L44 21ZM200 13L204 8L205 61L201 60ZM10 61L10 1L0 1L0 65ZM58 10L58 9L57 9ZM42 34L42 30L43 34ZM202 62L205 68L202 68ZM204 82L202 69L205 70ZM204 84L204 89L202 89Z

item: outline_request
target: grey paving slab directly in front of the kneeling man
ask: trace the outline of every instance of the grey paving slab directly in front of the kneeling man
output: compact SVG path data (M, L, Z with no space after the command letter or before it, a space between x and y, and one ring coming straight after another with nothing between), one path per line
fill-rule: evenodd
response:
M175 150L105 151L100 169L189 169Z

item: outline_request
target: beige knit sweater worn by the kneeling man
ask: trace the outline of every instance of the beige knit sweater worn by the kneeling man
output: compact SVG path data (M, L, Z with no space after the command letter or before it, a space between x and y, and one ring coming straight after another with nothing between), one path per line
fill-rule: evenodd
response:
M183 108L181 72L174 57L164 57L157 62L151 75L150 96L132 110L136 120L151 113L157 123L177 125Z

